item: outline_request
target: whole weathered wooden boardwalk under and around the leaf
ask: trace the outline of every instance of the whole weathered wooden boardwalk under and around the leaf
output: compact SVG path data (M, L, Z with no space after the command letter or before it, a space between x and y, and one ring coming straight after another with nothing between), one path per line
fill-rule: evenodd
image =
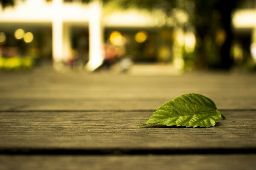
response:
M227 120L137 128L187 93ZM0 73L0 170L255 170L255 160L256 74Z

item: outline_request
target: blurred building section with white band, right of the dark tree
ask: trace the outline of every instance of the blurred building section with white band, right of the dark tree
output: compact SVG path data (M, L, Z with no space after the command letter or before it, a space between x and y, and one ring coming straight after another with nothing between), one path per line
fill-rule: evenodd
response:
M237 64L243 62L255 69L256 63L256 1L246 0L233 14L235 32L231 49Z

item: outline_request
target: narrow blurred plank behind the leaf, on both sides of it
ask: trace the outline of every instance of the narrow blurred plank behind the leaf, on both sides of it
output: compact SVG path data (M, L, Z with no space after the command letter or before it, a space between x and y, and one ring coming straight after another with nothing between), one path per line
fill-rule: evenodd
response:
M207 95L218 109L221 110L255 110L256 96L230 97ZM213 96L213 97L212 97ZM163 103L174 99L93 99L93 98L72 98L69 99L0 99L0 111L154 111Z

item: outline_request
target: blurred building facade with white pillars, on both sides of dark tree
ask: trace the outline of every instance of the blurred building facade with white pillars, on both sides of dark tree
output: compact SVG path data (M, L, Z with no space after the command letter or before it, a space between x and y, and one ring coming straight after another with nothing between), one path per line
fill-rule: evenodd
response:
M109 65L124 56L134 62L170 64L178 70L195 68L195 50L201 42L188 24L191 14L186 10L173 8L168 15L161 10L124 10L115 3L103 6L100 0L82 1L15 0L15 6L0 11L0 55L54 61L57 70L66 63L86 65L93 71L105 61ZM194 5L188 4L192 12ZM256 8L255 3L248 6L233 13L235 38L230 52L237 65L248 62L253 68ZM214 43L221 44L226 33L217 33ZM210 43L208 60L215 62Z

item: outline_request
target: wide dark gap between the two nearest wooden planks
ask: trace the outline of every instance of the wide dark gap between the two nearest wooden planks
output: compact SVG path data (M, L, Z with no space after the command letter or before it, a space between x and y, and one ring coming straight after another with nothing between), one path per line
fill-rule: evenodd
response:
M3 155L226 155L256 154L254 148L108 148L108 149L58 149L58 148L0 148Z

